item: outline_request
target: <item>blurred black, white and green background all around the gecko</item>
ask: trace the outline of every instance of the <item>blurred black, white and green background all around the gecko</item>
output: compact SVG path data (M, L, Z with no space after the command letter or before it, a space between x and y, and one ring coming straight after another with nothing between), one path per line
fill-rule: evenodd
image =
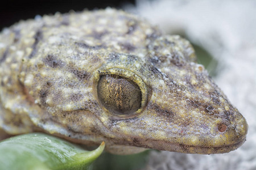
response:
M117 156L103 154L94 169L256 169L256 1L8 1L0 5L0 29L20 19L84 8L115 7L179 34L195 47L198 61L249 124L236 151L192 155L166 151Z

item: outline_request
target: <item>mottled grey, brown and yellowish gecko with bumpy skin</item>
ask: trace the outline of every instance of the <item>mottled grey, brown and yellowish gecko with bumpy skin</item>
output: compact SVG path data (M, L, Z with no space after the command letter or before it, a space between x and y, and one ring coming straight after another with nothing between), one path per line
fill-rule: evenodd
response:
M105 88L115 80L138 85L139 94L119 99L126 87ZM245 118L196 63L187 40L110 8L4 29L0 83L0 127L8 134L45 131L90 146L105 141L118 154L137 147L216 154L241 146L247 133ZM121 113L106 107L109 96L99 98L99 88L119 89L109 105ZM140 102L137 111L123 112L130 99Z

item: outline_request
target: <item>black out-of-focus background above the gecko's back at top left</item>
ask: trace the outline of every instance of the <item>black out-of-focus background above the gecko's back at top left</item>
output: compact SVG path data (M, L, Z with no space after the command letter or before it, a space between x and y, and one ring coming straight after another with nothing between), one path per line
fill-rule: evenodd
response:
M94 10L97 8L106 8L108 6L121 8L126 4L135 4L135 1L61 1L61 0L24 0L24 1L2 1L0 3L0 29L10 27L20 19L26 20L35 18L36 15L55 14L55 12L67 13L70 10L82 11L85 8Z

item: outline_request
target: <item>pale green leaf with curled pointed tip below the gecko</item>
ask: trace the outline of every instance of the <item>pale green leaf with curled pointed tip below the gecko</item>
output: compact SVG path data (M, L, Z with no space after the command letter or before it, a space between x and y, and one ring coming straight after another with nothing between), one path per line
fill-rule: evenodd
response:
M0 142L2 169L89 169L104 150L105 143L94 151L42 133L19 135Z

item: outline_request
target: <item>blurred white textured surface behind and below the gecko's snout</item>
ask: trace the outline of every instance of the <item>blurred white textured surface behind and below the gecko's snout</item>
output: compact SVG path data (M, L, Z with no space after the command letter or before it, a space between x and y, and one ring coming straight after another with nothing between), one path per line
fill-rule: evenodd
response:
M145 169L256 169L256 1L137 1L127 7L164 32L185 33L219 62L215 79L249 124L247 141L228 154L155 152Z

